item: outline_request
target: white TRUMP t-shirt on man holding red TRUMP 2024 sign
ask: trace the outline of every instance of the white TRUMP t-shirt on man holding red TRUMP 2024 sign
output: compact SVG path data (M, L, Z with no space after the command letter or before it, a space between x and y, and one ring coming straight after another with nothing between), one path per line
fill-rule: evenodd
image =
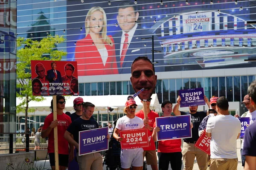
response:
M126 115L119 118L116 122L116 128L119 130L141 129L144 127L143 119L135 116L133 119Z

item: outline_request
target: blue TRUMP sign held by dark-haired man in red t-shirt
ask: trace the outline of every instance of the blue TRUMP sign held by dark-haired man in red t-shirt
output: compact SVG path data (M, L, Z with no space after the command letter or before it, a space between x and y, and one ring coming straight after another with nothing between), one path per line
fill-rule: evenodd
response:
M190 115L157 117L157 141L168 139L191 138Z

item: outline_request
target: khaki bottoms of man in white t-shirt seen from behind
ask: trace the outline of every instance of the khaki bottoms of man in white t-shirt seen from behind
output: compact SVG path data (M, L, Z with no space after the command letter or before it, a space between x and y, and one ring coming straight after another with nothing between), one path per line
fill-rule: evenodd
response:
M237 170L238 159L210 159L209 162L207 170Z

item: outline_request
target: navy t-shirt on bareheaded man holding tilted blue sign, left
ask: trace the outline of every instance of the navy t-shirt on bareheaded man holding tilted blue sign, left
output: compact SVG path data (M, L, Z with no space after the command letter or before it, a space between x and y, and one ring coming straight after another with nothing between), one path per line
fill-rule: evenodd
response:
M92 119L84 120L81 117L79 117L70 124L70 126L67 128L67 131L73 134L74 140L77 143L79 143L80 131L96 129L96 128L99 128L99 125L95 120L92 120Z

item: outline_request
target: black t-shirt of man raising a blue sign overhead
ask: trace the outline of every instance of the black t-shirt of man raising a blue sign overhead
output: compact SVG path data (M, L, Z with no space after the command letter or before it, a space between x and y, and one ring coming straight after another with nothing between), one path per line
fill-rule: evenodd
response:
M189 111L188 112L183 112L180 111L181 115L189 115ZM184 142L196 142L199 138L198 136L198 127L201 124L202 120L206 117L207 115L207 111L200 111L200 112L196 112L194 114L190 114L191 115L191 122L193 123L193 128L192 128L192 138L185 138L183 139Z

